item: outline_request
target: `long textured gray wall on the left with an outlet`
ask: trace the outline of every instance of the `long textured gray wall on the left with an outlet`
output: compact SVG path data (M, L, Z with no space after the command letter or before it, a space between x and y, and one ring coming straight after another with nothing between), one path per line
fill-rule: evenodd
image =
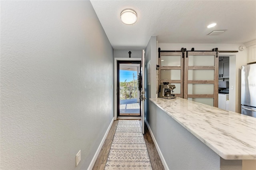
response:
M2 1L0 62L0 169L87 169L113 118L113 49L90 1Z

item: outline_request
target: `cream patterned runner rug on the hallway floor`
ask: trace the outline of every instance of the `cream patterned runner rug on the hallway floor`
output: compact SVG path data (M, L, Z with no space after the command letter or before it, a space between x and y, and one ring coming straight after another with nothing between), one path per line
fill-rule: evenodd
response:
M104 170L152 170L139 120L118 120Z

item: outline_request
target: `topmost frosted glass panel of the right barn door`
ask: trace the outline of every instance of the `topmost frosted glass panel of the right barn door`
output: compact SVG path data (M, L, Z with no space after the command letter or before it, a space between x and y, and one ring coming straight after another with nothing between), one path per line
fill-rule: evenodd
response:
M188 66L214 66L214 55L189 55Z

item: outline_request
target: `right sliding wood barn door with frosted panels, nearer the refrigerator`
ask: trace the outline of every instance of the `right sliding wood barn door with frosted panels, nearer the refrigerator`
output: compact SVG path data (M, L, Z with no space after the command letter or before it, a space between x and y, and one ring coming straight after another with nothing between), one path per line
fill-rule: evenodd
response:
M186 52L184 99L218 107L218 52Z

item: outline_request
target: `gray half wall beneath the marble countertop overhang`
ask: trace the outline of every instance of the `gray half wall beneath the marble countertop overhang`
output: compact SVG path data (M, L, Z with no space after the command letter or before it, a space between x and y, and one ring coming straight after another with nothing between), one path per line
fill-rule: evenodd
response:
M170 170L220 170L220 156L150 102L148 124Z

